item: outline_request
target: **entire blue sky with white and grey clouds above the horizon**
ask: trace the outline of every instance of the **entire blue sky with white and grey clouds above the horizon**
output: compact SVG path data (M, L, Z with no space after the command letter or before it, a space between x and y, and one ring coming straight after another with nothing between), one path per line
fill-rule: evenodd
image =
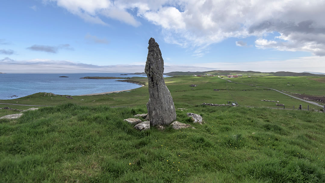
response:
M165 73L325 72L324 9L324 0L1 1L0 72L144 72L150 37Z

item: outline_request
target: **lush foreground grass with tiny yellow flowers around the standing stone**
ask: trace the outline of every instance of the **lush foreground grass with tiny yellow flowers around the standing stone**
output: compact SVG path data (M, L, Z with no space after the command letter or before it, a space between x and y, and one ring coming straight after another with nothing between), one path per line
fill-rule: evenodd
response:
M325 181L324 113L175 107L188 109L177 121L196 129L136 131L123 119L145 105L68 103L0 120L0 182Z

